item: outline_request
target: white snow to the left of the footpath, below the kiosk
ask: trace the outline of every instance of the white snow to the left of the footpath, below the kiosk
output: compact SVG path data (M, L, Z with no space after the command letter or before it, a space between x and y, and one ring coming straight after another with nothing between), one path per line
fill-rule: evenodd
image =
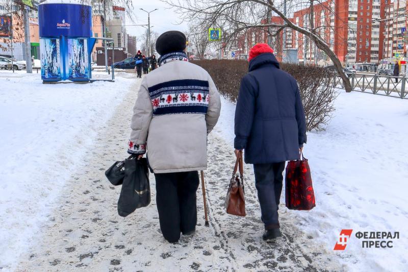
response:
M75 162L86 150L104 152L92 140L129 91L132 80L120 75L115 83L42 84L36 73L0 71L0 268L28 248L81 167Z

